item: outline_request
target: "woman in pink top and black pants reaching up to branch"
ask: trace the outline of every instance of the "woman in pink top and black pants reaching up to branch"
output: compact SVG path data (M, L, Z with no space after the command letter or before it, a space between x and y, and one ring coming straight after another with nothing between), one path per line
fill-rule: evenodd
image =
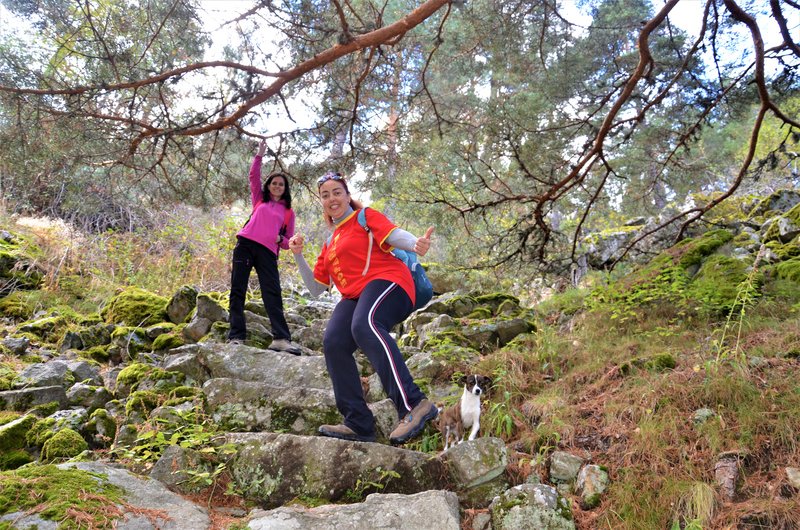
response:
M242 343L247 338L244 302L250 271L255 268L261 299L272 326L273 341L270 350L286 351L300 355L292 344L289 326L283 314L281 280L278 274L278 253L289 248L289 238L294 235L294 211L289 179L282 172L271 173L261 187L261 161L267 145L258 144L258 153L250 166L250 198L253 211L244 227L236 234L233 249L230 293L229 342Z

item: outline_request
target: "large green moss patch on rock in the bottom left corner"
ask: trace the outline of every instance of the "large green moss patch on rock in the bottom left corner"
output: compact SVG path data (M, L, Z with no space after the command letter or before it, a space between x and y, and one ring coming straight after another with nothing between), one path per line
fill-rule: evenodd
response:
M109 507L122 499L120 488L101 475L53 465L0 473L0 514L36 509L59 529L109 528Z

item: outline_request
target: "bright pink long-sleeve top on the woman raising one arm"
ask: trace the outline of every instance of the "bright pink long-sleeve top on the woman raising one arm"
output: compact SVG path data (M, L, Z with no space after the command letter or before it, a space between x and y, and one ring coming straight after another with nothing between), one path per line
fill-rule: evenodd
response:
M288 182L287 182L288 185ZM256 155L250 166L250 198L253 202L253 213L237 236L260 243L278 255L279 245L276 243L278 233L283 226L286 204L283 201L264 202L261 194L261 157ZM294 211L290 210L289 222L280 248L289 248L289 238L294 235Z

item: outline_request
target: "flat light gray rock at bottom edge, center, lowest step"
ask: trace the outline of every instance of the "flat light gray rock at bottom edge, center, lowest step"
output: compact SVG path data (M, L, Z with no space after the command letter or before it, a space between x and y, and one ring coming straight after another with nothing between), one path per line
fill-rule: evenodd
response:
M358 504L287 506L251 514L251 530L459 530L458 499L448 491L368 495Z

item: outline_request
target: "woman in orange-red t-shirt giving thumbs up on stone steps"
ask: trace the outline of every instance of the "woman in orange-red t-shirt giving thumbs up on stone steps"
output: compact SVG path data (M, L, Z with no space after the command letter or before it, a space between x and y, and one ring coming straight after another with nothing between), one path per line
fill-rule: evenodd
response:
M392 327L414 308L414 280L408 267L389 253L394 248L424 256L433 227L417 238L395 226L382 213L367 209L367 226L377 243L356 219L361 204L350 196L345 178L328 172L318 181L325 220L334 228L312 271L303 258L303 236L289 240L306 287L317 296L331 285L342 295L325 328L323 351L333 381L341 425L323 425L320 434L363 442L375 441L375 419L367 407L353 354L360 349L380 377L395 404L399 425L389 441L401 444L419 435L438 410L414 383Z

